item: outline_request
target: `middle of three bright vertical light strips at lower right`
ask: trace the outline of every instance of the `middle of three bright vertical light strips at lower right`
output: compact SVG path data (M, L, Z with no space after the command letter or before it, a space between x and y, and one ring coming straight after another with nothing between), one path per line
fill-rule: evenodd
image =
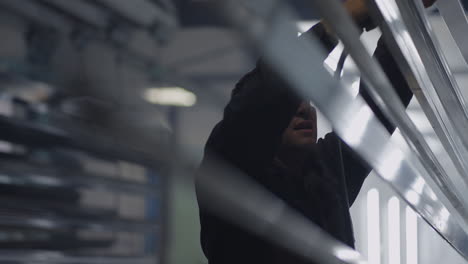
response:
M400 264L400 201L388 201L388 263Z

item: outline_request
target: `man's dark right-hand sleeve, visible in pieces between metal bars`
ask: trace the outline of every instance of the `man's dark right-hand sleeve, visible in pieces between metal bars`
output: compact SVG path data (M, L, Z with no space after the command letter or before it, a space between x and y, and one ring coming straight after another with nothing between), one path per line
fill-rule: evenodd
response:
M384 44L383 39L379 40L374 57L379 61L383 70L387 74L387 77L390 79L393 88L400 97L401 102L405 106L408 106L411 98L413 97L413 93L409 88L404 75L398 68L396 61L390 54L387 46ZM395 131L395 126L391 124L391 122L384 116L377 104L371 99L364 83L361 84L359 93L373 110L376 117L388 130L388 132L393 133ZM343 168L346 175L348 199L351 206L359 194L359 190L361 189L364 180L371 172L371 168L364 161L362 161L344 142L341 143L341 152Z

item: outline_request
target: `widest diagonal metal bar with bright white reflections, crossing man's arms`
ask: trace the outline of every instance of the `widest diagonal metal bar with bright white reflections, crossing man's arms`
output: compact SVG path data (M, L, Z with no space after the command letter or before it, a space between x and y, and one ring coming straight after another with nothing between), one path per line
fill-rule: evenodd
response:
M422 166L414 166L413 159L408 159L408 153L389 141L390 135L364 100L360 96L353 99L352 94L323 68L322 61L317 58L325 56L316 40L297 42L292 39L290 32L295 32L295 27L290 22L294 17L287 9L283 6L273 8L274 1L268 2L270 8L264 2L264 5L256 2L250 6L239 1L224 2L225 10L229 10L226 15L252 41L273 69L292 88L311 98L342 140L437 233L468 258L466 231L426 184L422 175L427 172L421 169ZM261 9L255 9L255 5Z

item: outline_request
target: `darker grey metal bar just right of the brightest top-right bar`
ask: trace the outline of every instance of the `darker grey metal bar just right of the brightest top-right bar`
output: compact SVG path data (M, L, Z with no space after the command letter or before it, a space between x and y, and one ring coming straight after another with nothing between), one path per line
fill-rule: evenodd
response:
M433 36L430 24L425 16L423 6L418 1L396 1L401 17L405 22L406 29L411 34L417 48L418 58L425 69L427 76L434 84L433 86L421 86L423 93L429 97L429 102L436 109L437 114L445 112L447 119L443 119L449 125L446 131L454 141L453 145L459 157L464 158L466 165L468 161L468 112L462 99L462 93L455 81L448 64L441 52L438 42ZM440 101L440 104L438 103ZM457 134L458 133L458 134ZM465 167L466 168L466 167ZM468 170L465 170L468 173ZM468 177L465 173L465 177Z

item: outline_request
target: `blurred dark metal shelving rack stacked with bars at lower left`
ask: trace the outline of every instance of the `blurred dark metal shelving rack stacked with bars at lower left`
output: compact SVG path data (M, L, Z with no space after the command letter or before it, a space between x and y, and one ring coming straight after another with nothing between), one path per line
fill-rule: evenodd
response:
M164 161L85 127L3 115L0 131L0 262L161 262Z

